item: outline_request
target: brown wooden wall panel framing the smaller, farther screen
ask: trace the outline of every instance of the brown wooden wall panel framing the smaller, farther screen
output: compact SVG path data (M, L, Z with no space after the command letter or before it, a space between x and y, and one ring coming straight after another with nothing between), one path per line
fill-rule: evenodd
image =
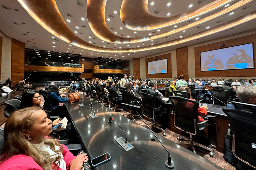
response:
M162 59L167 59L167 70L168 70L167 72L168 73L148 74L148 62L152 62L155 60L162 60ZM146 64L146 77L149 77L149 78L170 78L171 77L171 53L159 55L156 57L150 57L150 58L147 58L145 61L146 61L146 63L145 63Z

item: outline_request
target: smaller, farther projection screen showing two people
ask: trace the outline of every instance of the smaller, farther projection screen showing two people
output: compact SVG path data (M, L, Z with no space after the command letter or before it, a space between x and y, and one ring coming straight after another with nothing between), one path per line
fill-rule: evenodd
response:
M148 74L168 73L167 59L148 62Z

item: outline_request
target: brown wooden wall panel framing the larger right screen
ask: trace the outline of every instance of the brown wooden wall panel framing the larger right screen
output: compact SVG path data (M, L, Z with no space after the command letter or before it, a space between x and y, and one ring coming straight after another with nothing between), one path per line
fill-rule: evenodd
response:
M225 47L253 43L254 68L252 69L237 69L237 70L216 70L216 71L201 71L200 52L221 49L220 44L225 44ZM225 40L208 44L195 48L195 76L196 77L243 77L256 76L256 34L239 37L231 40ZM223 63L224 64L224 63ZM177 64L178 66L178 64Z

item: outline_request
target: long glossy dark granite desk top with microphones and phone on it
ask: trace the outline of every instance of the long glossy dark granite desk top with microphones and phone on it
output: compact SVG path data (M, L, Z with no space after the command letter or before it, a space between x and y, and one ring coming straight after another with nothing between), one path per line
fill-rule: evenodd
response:
M167 152L150 130L111 111L115 120L126 131L128 142L134 146L132 150L126 152L115 142L115 138L121 136L125 138L125 135L114 121L108 123L108 108L92 101L95 114L98 116L98 118L92 119L89 117L91 113L88 106L89 99L84 98L82 107L79 107L78 104L75 102L66 104L66 106L88 155L91 158L109 152L112 157L110 161L97 166L96 169L168 169L164 164L167 160ZM221 169L207 159L163 136L156 135L170 151L174 162L173 169ZM151 141L151 138L154 138L155 141Z

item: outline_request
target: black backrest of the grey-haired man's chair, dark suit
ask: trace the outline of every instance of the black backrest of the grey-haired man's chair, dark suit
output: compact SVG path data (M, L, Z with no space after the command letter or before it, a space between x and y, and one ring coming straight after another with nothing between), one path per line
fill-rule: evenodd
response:
M150 118L154 119L155 118L155 113L154 113L154 108L155 108L155 97L153 95L147 94L147 93L139 93L142 98L142 103L143 103L143 115Z

